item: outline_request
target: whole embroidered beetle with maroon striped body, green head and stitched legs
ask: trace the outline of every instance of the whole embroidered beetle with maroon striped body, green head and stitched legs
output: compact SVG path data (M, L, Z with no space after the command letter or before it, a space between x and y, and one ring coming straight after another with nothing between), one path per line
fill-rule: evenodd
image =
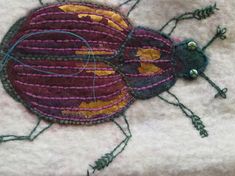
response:
M39 121L28 136L4 135L0 141L33 140L55 122L90 125L112 120L126 139L91 166L93 172L101 170L131 138L124 111L136 99L155 96L180 107L206 137L200 118L169 89L178 77L200 75L218 90L216 96L226 98L227 89L221 90L203 73L208 63L205 49L216 38L225 39L226 29L218 28L203 48L192 39L176 43L170 35L179 21L201 20L216 9L214 5L182 14L158 31L133 27L119 12L92 3L52 4L18 20L1 44L1 80L9 95ZM172 22L170 33L162 33ZM164 91L177 102L159 95ZM127 131L114 120L119 116ZM36 133L41 119L50 124Z

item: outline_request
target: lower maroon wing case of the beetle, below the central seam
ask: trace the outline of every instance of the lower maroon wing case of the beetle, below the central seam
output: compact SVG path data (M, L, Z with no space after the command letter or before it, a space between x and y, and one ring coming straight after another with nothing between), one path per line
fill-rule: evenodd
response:
M93 63L79 61L23 62L27 66L9 62L8 79L19 100L46 119L98 123L117 116L133 101L121 76L104 63L94 68ZM29 65L57 74L39 73Z

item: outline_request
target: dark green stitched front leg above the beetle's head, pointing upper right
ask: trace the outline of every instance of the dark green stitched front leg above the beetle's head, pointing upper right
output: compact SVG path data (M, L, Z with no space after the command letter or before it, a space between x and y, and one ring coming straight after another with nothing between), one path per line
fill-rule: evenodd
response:
M165 27L168 26L171 22L175 22L173 28L168 33L168 35L170 36L174 32L175 28L177 27L177 24L180 21L189 20L189 19L203 20L203 19L206 19L206 18L210 17L212 14L214 14L216 10L219 10L219 9L216 7L216 3L215 3L214 5L209 5L209 6L205 7L205 8L194 10L193 12L186 12L186 13L184 13L182 15L179 15L177 17L174 17L174 18L170 19L160 29L160 31L164 30Z

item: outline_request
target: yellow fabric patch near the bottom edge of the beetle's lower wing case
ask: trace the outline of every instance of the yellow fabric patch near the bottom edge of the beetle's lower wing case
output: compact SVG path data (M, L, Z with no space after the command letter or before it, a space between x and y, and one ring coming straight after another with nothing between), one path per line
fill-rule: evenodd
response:
M128 102L128 100L123 100L121 102L119 102L116 105L113 105L109 108L105 108L102 109L104 106L108 106L110 104L114 104L117 101L120 101L120 99L124 98L126 96L127 92L126 91L122 91L120 95L116 96L113 100L110 101L93 101L90 103L85 103L82 102L79 106L79 108L100 108L101 110L97 110L97 111L89 111L89 110L85 110L85 111L62 111L63 115L81 115L85 118L92 118L96 115L111 115L117 111L119 111L120 109L124 108Z

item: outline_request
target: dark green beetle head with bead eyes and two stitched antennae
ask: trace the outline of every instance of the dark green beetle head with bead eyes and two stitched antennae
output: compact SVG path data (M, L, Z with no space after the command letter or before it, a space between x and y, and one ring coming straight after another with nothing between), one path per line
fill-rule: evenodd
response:
M176 75L178 77L183 77L186 79L195 79L198 76L201 76L206 81L208 81L212 87L217 90L217 94L215 95L215 97L220 96L222 98L226 98L226 93L228 89L221 89L203 73L208 65L208 58L204 54L204 51L214 41L216 37L217 36L215 36L211 41L209 41L208 44L203 48L200 48L198 44L192 39L187 39L183 42L176 44L174 54L174 58L176 61ZM222 37L222 39L225 39L225 36Z

